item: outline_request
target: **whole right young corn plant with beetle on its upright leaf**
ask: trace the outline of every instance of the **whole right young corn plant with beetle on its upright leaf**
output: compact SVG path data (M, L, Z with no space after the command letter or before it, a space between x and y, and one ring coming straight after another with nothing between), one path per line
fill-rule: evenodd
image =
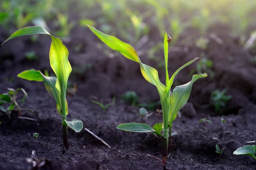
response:
M162 137L163 142L163 159L162 164L168 158L168 148L171 149L171 128L172 122L176 119L178 111L186 104L189 99L189 95L191 93L192 84L199 78L206 77L207 74L200 74L200 75L193 75L190 82L183 84L181 86L176 86L171 93L171 86L173 85L173 80L177 73L179 73L182 68L190 65L191 63L195 62L199 58L195 58L190 62L187 62L183 66L177 69L175 73L169 78L168 73L168 42L170 42L170 38L165 33L164 35L164 61L165 61L165 72L166 72L166 84L164 85L159 80L158 72L155 68L148 66L141 62L139 56L135 49L125 42L101 31L89 26L89 29L97 35L97 37L103 41L106 45L108 45L111 49L115 51L119 51L124 57L133 60L139 63L141 73L143 77L149 83L156 86L157 91L160 96L160 101L162 105L162 114L163 114L163 122L155 124L153 128L151 128L147 124L140 124L140 123L125 123L120 124L117 126L118 129L130 131L130 132L153 132L156 135ZM173 134L174 135L174 134ZM160 160L161 161L161 160Z

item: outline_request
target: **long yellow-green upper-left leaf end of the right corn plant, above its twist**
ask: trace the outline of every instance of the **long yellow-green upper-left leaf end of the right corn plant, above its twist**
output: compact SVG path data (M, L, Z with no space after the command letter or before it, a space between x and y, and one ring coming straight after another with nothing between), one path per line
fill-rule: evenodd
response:
M118 51L119 53L121 53L122 55L124 55L126 58L128 58L130 60L139 62L139 57L138 57L135 49L130 44L127 44L111 35L102 33L101 31L95 29L94 27L92 27L90 25L87 25L87 26L95 35L97 35L97 37L101 41L103 41L111 49Z

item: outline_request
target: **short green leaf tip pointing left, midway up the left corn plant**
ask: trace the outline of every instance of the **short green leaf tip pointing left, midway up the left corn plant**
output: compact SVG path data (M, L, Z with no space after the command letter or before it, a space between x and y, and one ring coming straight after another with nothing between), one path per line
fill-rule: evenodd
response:
M37 81L37 82L43 81L43 77L42 77L40 71L36 71L34 69L22 71L17 76L22 79L27 79L30 81Z

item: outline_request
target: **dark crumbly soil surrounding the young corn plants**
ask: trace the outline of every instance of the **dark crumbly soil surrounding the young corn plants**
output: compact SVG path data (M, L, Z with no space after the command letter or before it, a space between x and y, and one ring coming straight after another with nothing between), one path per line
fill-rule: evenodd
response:
M136 121L150 126L162 122L162 115L156 111L147 119L141 118L137 115L139 107L121 102L121 95L126 91L135 91L140 103L159 101L157 89L141 76L137 63L107 49L89 29L76 27L71 31L70 41L64 41L64 44L69 49L73 68L69 82L77 85L77 91L75 95L67 95L67 119L83 121L84 128L111 148L85 130L76 133L69 129L69 148L65 150L61 116L56 111L54 98L47 93L43 82L16 77L31 68L47 69L52 74L48 57L50 38L40 35L37 42L31 42L26 36L7 42L0 47L0 93L6 93L7 88L24 88L29 97L22 108L35 113L22 111L22 117L36 121L21 119L16 111L10 117L0 112L0 170L255 170L256 161L252 157L233 155L236 148L256 140L255 53L245 50L238 38L229 35L229 29L222 27L213 27L208 34L214 33L222 42L208 36L209 44L205 50L196 47L195 43L182 45L187 35L196 35L191 34L194 30L187 30L177 42L176 46L182 50L170 49L170 73L193 57L204 56L213 62L211 71L214 75L193 84L188 104L181 110L181 117L173 122L173 132L177 135L172 138L171 155L165 167L147 155L162 159L161 139L151 133L132 133L116 128L126 122ZM0 43L8 36L7 31L0 29ZM157 38L156 35L152 37ZM154 42L153 38L149 41ZM74 47L78 44L81 49L76 51ZM136 50L147 51L148 44ZM106 49L111 53L106 54ZM38 60L26 59L25 52L28 51L35 51ZM159 51L157 55L163 57L163 52ZM146 54L140 57L151 66L158 64L157 60L149 60ZM182 70L175 79L176 84L188 82L195 67L196 63ZM158 71L163 82L164 69ZM211 92L216 89L226 89L227 95L232 96L222 115L216 113L213 106L203 107L210 103ZM108 107L106 113L91 102L96 99L108 104L113 97L116 97L115 105ZM160 106L154 110L157 108ZM212 123L199 123L204 117ZM34 132L39 133L37 142ZM215 152L216 144L220 149L225 147L221 156ZM32 160L34 166L29 159L33 150L36 151Z

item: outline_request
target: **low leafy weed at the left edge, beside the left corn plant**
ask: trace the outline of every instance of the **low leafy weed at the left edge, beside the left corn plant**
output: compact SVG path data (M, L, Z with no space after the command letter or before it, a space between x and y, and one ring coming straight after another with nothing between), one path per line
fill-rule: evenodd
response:
M34 113L32 110L28 108L20 108L18 103L24 104L25 99L27 98L27 92L23 88L17 88L16 90L13 88L7 88L8 92L0 94L0 110L6 113L9 117L13 110L18 110L18 114L21 117L21 110L27 110L31 113ZM20 96L18 96L18 92L23 92L22 99L18 100ZM7 105L7 108L4 108L3 105ZM15 109L15 107L17 109Z

